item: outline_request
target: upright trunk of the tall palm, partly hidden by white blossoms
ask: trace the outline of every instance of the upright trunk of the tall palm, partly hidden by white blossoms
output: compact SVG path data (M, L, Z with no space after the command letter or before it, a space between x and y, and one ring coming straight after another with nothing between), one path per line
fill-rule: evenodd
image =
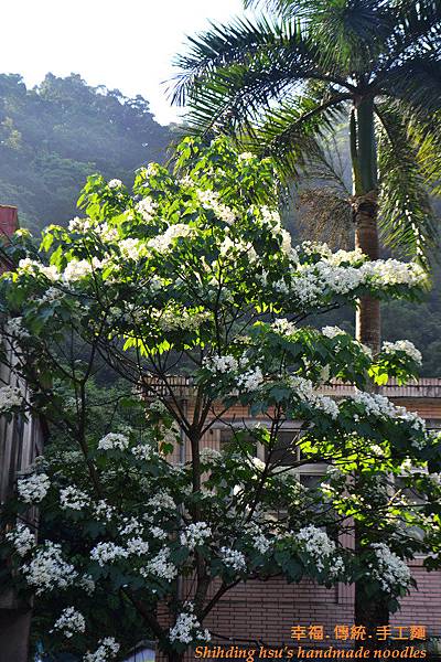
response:
M374 128L374 103L359 99L351 114L351 158L353 166L353 217L355 246L370 259L379 258L377 149ZM381 342L380 306L373 297L362 297L355 320L356 338L375 353ZM355 549L361 547L361 534L355 527ZM375 648L376 629L389 623L387 602L373 602L366 596L363 580L355 584L354 620L366 629L365 649Z

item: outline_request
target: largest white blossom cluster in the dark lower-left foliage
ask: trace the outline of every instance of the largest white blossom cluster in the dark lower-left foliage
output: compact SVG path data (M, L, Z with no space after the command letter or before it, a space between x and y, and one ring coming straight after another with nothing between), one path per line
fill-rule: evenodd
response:
M53 588L66 588L78 575L74 566L63 559L61 545L52 542L40 547L21 570L28 584L35 587L36 595Z

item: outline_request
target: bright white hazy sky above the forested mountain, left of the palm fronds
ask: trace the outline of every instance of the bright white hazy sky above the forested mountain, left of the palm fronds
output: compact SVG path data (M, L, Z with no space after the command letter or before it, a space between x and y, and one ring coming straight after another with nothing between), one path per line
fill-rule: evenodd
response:
M90 85L142 94L162 124L176 118L161 82L186 34L243 13L241 0L2 0L0 73L40 83L78 73Z

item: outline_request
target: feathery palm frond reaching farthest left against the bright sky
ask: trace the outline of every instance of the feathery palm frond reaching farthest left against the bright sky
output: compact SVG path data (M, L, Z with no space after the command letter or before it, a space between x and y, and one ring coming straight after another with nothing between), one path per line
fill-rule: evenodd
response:
M247 42L248 31L247 26L243 43ZM224 131L226 127L230 131L245 127L249 131L262 111L270 109L281 96L288 97L299 84L325 81L340 86L340 79L334 81L330 72L324 73L318 65L315 46L292 25L277 26L265 47L263 42L257 44L249 36L249 44L255 45L239 54L236 38L232 36L230 44L224 41L222 55L216 45L217 54L212 61L206 55L205 43L198 56L192 55L191 61L186 61L190 68L183 75L183 98L187 98L189 122L196 131L213 127ZM206 61L201 65L204 53Z

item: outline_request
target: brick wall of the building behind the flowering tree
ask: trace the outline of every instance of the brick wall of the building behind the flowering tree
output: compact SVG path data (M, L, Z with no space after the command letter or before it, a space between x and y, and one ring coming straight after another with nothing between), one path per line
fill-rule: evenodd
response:
M324 387L324 395L342 397L352 392L352 387L343 384ZM192 389L182 389L182 398L192 414ZM426 419L429 429L441 429L441 378L421 378L409 386L397 386L394 382L380 388L395 404L407 407ZM216 423L201 444L216 450L233 435L232 427L243 427L258 421L248 412L236 406L223 415L223 423ZM260 419L261 421L262 419ZM298 427L292 421L292 429ZM289 430L290 426L287 426ZM292 437L292 435L291 435ZM184 451L176 449L175 461L191 459L189 446ZM257 448L257 457L265 449ZM260 455L260 459L265 459ZM299 480L311 484L322 476L324 469L320 465L304 465L299 469ZM351 544L349 541L345 541ZM409 596L402 599L401 608L391 615L390 624L422 624L427 628L428 638L441 637L441 572L428 573L423 568L423 558L415 558L409 565L418 583ZM335 643L333 632L335 624L354 622L354 586L338 584L332 589L314 585L311 580L302 580L298 585L288 584L282 578L268 581L248 581L230 589L217 604L204 621L213 633L213 643L226 645L228 642L243 645L262 642L267 645L295 645L291 639L293 626L323 624L330 633L326 645ZM394 630L395 631L395 630ZM342 642L340 642L341 644ZM186 659L194 659L189 653Z

